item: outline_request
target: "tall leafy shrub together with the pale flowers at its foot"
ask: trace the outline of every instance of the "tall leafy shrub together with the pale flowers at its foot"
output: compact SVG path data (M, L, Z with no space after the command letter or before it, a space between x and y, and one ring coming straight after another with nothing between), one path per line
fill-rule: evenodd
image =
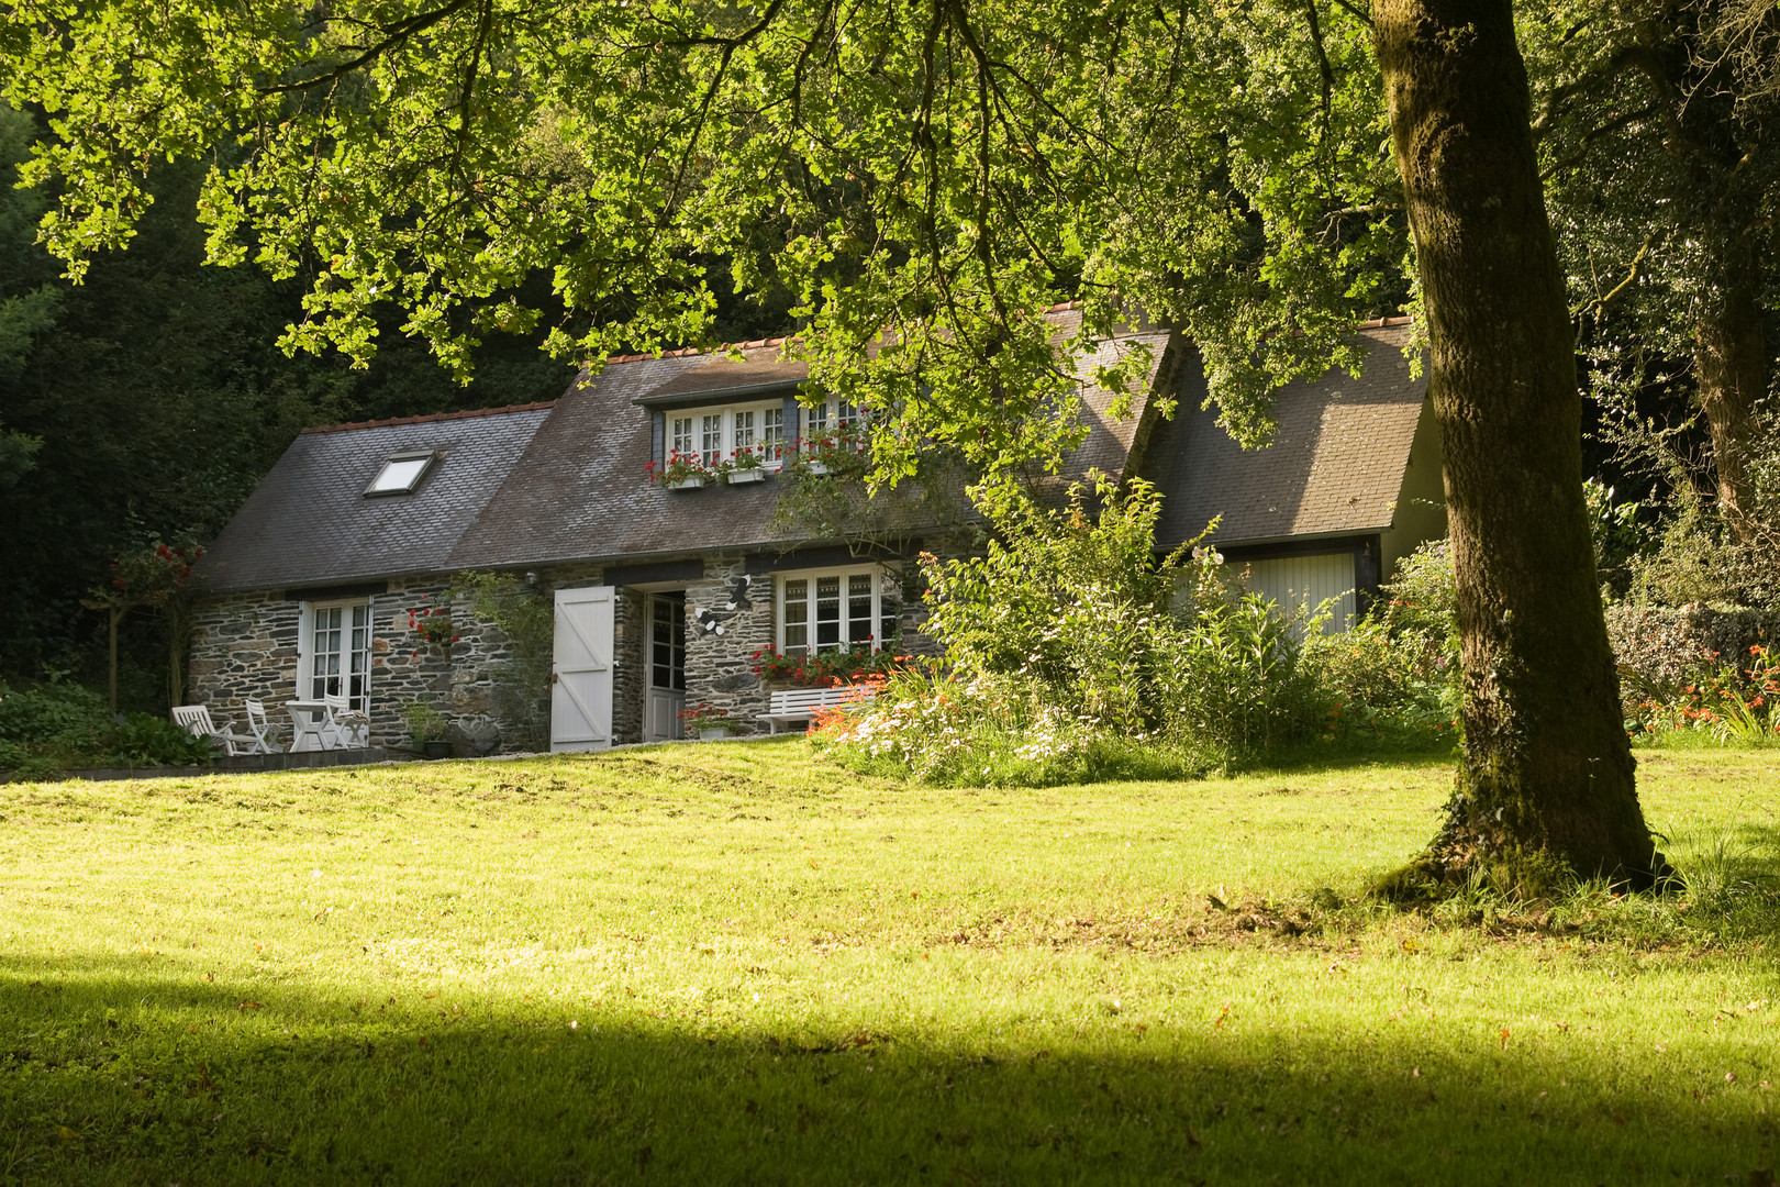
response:
M895 673L817 737L934 781L1175 776L1310 733L1319 696L1289 623L1210 548L1153 552L1161 498L1095 475L1050 511L979 493L986 555L922 557L951 671ZM1096 772L1088 776L1088 772Z

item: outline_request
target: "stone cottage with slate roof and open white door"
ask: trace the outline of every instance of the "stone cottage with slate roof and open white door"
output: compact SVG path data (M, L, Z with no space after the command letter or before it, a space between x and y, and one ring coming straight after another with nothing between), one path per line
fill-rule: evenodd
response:
M1072 310L1052 317L1073 333ZM1191 343L1166 331L1105 342L1079 359L1088 440L1066 472L1150 477L1166 498L1161 546L1223 514L1216 541L1257 587L1363 610L1396 557L1444 532L1444 514L1406 326L1360 333L1363 377L1285 388L1276 440L1258 452L1200 409ZM1118 420L1088 375L1134 342L1153 372ZM753 657L769 644L917 646L908 559L943 548L956 521L906 497L874 500L883 530L867 543L778 514L822 470L821 448L849 448L860 429L851 406L803 393L808 372L781 347L618 358L546 404L303 432L206 557L192 698L239 715L244 698L344 694L379 744L406 742L404 710L429 699L459 753L596 749L680 737L687 705L753 730L767 708ZM1178 397L1173 420L1155 415L1159 393ZM465 571L500 573L516 598L550 607L548 723L529 728L502 696L525 666L450 596Z

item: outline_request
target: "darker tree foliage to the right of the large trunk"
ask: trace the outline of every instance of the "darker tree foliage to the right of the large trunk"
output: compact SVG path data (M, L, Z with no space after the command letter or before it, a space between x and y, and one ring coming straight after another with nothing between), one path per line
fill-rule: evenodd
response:
M1664 477L1682 497L1695 470L1709 473L1730 534L1780 557L1775 484L1757 473L1776 424L1762 400L1780 349L1780 9L1556 0L1531 5L1522 28L1572 313L1609 429L1679 472ZM1709 466L1645 424L1634 397L1652 383L1703 415Z

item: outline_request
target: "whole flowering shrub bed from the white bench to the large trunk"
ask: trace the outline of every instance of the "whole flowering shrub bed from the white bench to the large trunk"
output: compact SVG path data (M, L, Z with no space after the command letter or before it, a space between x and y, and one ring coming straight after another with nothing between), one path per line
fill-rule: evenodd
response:
M1214 548L1157 561L1150 486L1098 479L1095 500L984 497L986 555L922 559L949 667L892 671L819 719L815 744L867 771L1029 785L1182 778L1319 740L1451 746L1444 553L1406 568L1394 618L1323 635L1326 609L1282 618Z

